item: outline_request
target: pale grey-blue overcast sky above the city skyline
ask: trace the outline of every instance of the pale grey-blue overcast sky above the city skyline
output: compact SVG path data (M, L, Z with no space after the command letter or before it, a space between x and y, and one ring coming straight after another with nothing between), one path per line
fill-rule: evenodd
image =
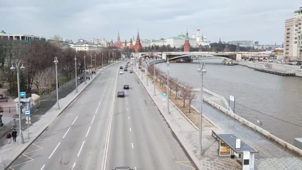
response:
M301 0L2 0L0 30L67 39L159 39L200 28L212 42L284 39Z

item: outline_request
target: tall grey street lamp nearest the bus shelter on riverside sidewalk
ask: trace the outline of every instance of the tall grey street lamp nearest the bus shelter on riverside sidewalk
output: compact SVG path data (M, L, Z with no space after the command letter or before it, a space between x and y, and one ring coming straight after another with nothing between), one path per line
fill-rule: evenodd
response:
M201 139L202 139L202 103L203 103L203 96L202 96L202 91L203 91L203 76L207 73L205 69L205 63L200 62L199 68L197 69L198 72L200 72L201 76L201 82L200 82L200 108L199 108L199 144L197 148L197 154L202 154L202 146L201 146Z

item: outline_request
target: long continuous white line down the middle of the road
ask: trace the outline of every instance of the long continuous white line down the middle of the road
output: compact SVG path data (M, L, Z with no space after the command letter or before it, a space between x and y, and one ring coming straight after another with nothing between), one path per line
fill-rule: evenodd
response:
M113 100L111 103L111 114L109 118L109 125L108 125L108 130L107 130L107 142L105 144L105 152L103 155L103 161L102 161L102 170L106 170L106 162L107 162L107 155L108 155L108 146L109 146L109 140L110 140L110 132L111 132L111 124L112 124L112 115L113 115L113 106L114 106L114 99L115 99L115 92L116 92L116 85L117 85L117 78L118 78L118 71L116 72L116 78L115 78L115 85L114 85L114 91L113 91Z

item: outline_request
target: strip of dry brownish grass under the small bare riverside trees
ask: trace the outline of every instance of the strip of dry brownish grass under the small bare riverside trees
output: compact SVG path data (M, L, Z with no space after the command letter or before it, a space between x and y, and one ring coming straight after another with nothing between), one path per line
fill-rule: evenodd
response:
M150 80L150 79L149 79ZM155 82L155 85L159 88L161 92L167 93L167 89L164 89L162 86L159 86L159 82ZM175 99L175 93L172 91L169 93L169 99L181 110L197 127L199 127L199 113L197 110L191 107L191 113L189 113L189 104L185 103L185 107L183 107L182 98L178 97ZM203 117L202 119L202 127L203 128L212 128L215 127L209 120Z

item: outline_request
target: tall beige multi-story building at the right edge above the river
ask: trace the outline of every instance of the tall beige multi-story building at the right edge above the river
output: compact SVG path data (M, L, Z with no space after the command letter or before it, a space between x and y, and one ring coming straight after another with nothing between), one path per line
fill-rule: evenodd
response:
M302 7L294 11L294 17L285 21L284 60L302 61Z

